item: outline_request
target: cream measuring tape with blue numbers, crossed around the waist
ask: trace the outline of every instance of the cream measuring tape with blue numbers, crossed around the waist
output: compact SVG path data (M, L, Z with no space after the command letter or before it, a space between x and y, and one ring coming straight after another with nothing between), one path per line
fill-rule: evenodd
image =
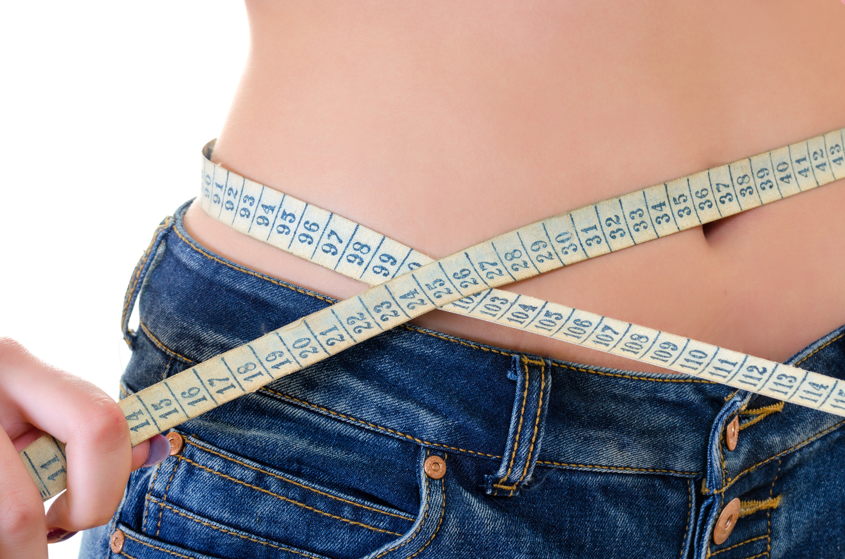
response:
M495 288L684 231L845 178L845 129L537 221L437 261L210 161L202 207L242 233L369 285L346 301L119 402L138 444L279 377L442 308L845 416L845 384L694 339ZM64 445L20 452L45 500L66 482Z

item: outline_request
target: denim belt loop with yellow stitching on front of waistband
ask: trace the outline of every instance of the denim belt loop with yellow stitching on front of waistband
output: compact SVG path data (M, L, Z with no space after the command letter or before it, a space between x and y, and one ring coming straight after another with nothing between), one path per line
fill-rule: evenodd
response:
M551 361L534 355L514 355L516 397L510 415L508 440L499 471L484 476L488 495L513 497L534 472L546 425L552 388Z

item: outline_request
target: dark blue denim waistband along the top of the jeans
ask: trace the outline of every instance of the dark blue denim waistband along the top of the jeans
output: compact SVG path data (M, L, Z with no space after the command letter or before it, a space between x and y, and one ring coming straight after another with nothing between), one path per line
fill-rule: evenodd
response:
M144 338L161 351L158 369L150 366L146 376L125 379L131 391L335 302L199 246L183 226L187 207L156 230L124 302L130 344ZM128 314L142 288L136 334L127 328ZM824 343L816 343L815 353ZM813 347L804 354L815 355ZM833 362L825 355L815 358ZM390 437L489 460L488 492L504 495L512 494L535 465L698 477L705 473L708 448L722 423L751 398L693 377L550 360L413 325L282 378L259 395ZM762 406L774 403L754 398ZM807 409L794 416L810 421L810 430L833 421ZM799 441L805 430L799 431L772 438L771 452ZM749 457L751 463L754 459Z

